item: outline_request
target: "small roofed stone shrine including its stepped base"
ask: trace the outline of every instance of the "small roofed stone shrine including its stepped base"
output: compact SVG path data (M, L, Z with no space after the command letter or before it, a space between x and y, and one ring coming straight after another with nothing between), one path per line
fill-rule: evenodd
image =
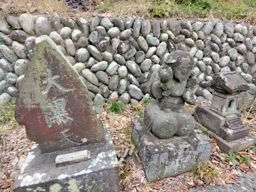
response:
M252 145L255 139L249 136L250 128L243 125L237 111L243 92L250 89L242 75L238 72L217 73L201 86L211 87L214 92L209 107L197 106L195 119L209 130L221 150L237 152Z

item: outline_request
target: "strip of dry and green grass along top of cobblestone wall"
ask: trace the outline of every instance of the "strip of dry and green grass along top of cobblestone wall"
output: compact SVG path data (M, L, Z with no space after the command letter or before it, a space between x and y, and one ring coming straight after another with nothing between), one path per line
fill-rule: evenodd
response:
M65 0L63 0L65 1ZM255 0L95 0L86 10L72 10L62 0L4 0L5 14L30 12L66 16L138 16L143 18L232 19L255 24Z

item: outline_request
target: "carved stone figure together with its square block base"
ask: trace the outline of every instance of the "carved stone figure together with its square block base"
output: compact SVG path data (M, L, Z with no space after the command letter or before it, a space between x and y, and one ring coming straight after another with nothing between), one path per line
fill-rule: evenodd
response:
M149 182L187 172L210 157L212 141L194 130L195 119L182 109L196 101L198 85L189 79L194 65L188 52L170 53L148 82L156 100L145 107L143 120L132 121L132 140Z

